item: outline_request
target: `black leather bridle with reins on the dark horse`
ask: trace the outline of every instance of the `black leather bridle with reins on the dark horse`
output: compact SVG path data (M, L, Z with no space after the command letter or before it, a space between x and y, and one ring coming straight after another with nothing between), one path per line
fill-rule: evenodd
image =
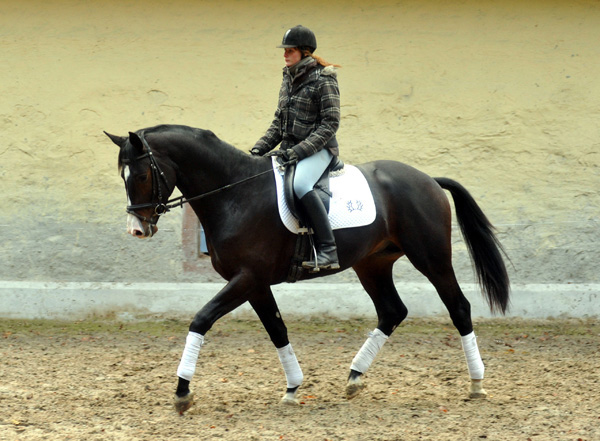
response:
M143 204L128 205L126 207L125 211L127 211L128 214L131 214L132 216L137 217L139 220L141 220L143 222L147 222L150 226L156 225L158 223L158 219L160 218L160 216L162 216L165 213L168 213L169 211L171 211L172 208L183 207L183 204L188 204L192 201L196 201L196 200L206 198L208 196L212 196L221 191L228 190L232 187L243 184L244 182L248 182L252 179L258 178L259 176L262 176L264 174L273 173L273 169L269 168L268 170L260 172L256 175L252 175L252 176L242 179L240 181L224 185L223 187L219 187L215 190L211 190L209 192L191 197L189 199L186 199L183 196L179 196L179 197L176 197L173 199L169 199L167 202L162 202L163 194L162 194L161 182L164 183L164 185L167 188L169 188L169 183L167 181L167 177L161 170L160 165L158 164L158 161L156 161L156 158L154 157L154 154L152 153L152 150L150 149L150 146L148 145L148 141L146 141L146 138L144 137L144 133L143 132L140 133L139 137L142 140L142 145L146 149L146 152L144 154L138 156L137 158L134 158L133 160L122 159L121 162L123 164L131 164L131 162L138 161L140 159L144 159L144 158L150 159L150 170L152 173L152 200L157 200L158 202L146 202ZM284 164L284 165L287 165L287 164ZM136 210L142 210L144 208L153 208L154 214L150 217L146 217L146 216L142 216L141 214L137 213Z

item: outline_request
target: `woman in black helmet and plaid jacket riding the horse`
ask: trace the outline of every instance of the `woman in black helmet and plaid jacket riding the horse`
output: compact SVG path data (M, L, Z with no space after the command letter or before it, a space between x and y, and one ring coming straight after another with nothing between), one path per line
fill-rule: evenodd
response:
M338 269L335 237L313 187L333 157L339 155L335 134L340 124L340 92L334 69L339 66L313 54L317 39L304 26L289 29L277 47L284 49L285 67L275 119L251 153L264 155L281 143L284 160L298 162L294 193L314 230L317 250L316 265L308 261L302 266Z

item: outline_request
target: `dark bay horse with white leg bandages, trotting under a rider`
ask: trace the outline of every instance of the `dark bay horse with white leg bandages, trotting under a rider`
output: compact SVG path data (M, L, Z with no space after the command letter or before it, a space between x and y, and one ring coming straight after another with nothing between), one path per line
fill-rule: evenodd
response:
M281 402L297 403L304 376L271 290L286 281L296 235L284 228L278 215L271 158L252 156L209 130L182 125L159 125L128 136L105 134L119 147L128 233L151 237L158 231L161 215L189 203L204 227L211 263L227 281L189 326L177 368L175 409L183 414L193 405L190 382L204 336L219 318L245 302L261 320L282 364L287 387ZM339 270L302 276L306 280L352 268L375 306L377 327L352 360L346 397L355 397L365 387L363 374L407 317L392 276L394 262L406 256L435 287L460 335L471 379L469 397L485 398L485 368L470 303L452 266L451 206L444 190L454 201L482 294L492 312L504 314L510 282L494 227L470 193L452 179L432 178L391 160L356 167L371 189L375 220L366 226L335 230ZM182 196L169 199L176 187Z

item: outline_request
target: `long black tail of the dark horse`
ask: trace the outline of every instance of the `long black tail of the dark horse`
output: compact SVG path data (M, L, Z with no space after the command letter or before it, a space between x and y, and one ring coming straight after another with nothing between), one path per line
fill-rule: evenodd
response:
M504 253L504 249L494 234L494 227L462 185L448 178L434 179L443 189L452 194L458 225L475 264L477 279L490 309L492 312L506 313L510 282L500 253L500 251Z

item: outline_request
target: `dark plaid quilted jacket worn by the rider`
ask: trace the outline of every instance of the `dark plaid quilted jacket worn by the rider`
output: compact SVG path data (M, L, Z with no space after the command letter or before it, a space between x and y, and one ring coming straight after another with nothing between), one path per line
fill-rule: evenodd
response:
M281 149L293 147L300 159L323 148L337 156L339 125L340 92L333 67L315 60L300 68L293 81L284 68L275 119L254 148L264 155L281 143Z

